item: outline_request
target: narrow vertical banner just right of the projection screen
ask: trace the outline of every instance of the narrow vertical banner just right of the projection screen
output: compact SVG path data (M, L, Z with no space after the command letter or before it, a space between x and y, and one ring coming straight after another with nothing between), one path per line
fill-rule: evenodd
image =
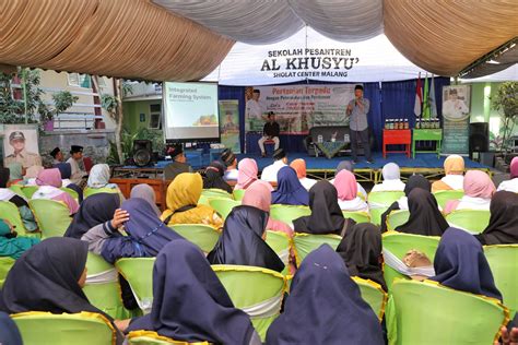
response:
M221 143L234 153L240 153L239 143L239 100L220 100Z

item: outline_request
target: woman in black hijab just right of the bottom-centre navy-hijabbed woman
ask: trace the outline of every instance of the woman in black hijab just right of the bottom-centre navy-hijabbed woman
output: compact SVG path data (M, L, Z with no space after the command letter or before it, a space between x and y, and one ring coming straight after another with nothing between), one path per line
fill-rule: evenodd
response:
M370 279L387 290L381 266L381 233L370 223L356 224L337 248L351 276Z

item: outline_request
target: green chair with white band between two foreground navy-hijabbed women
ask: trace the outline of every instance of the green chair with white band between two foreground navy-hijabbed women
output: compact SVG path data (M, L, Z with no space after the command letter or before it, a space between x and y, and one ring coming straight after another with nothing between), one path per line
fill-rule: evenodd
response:
M281 313L286 290L282 274L263 267L242 265L212 265L234 306L251 319L257 333L264 342L268 328Z

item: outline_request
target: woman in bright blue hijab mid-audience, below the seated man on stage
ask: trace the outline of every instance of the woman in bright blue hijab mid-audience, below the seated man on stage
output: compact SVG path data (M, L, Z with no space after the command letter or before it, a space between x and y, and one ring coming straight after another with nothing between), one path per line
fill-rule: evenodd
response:
M272 204L304 206L309 204L309 194L292 167L281 168L276 181L276 190L272 192Z

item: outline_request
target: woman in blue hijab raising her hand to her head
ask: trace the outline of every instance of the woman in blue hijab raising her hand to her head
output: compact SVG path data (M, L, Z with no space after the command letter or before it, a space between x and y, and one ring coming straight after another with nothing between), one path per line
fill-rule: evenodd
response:
M89 242L90 251L114 263L120 258L156 257L165 245L179 238L145 200L134 198L125 201L111 221L94 226L81 240Z

